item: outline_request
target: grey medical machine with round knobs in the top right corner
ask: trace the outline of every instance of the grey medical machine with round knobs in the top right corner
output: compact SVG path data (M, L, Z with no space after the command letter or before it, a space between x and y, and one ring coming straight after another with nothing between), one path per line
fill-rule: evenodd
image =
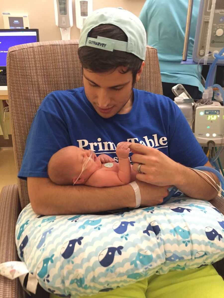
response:
M197 28L194 40L193 60L198 62L208 53L204 64L212 63L214 54L218 54L224 46L224 1L201 0L198 13ZM220 60L219 64L224 64Z

